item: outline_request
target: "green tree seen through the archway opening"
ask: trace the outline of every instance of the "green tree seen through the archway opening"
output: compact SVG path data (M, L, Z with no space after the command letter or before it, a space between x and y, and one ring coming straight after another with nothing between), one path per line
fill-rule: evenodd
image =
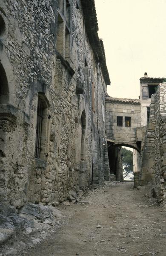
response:
M133 173L133 153L131 150L122 148L122 166L123 166L123 178L125 178L129 173Z

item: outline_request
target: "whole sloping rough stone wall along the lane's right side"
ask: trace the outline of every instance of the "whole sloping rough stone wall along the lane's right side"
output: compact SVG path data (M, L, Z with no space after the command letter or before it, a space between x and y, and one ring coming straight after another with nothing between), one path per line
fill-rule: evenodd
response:
M140 184L153 184L153 196L166 204L166 83L152 96L143 148Z

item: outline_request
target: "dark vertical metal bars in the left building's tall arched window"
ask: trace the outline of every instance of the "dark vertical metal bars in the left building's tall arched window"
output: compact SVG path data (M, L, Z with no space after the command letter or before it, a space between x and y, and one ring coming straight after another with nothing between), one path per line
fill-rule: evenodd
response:
M35 157L40 158L41 153L41 139L42 139L42 123L43 123L43 104L41 99L38 99L37 105L37 124L36 124L36 145Z

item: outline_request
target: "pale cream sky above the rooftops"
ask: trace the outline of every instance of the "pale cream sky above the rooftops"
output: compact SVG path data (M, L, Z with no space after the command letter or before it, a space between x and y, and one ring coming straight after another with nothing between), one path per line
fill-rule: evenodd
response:
M138 98L140 77L166 77L166 0L95 0L112 97Z

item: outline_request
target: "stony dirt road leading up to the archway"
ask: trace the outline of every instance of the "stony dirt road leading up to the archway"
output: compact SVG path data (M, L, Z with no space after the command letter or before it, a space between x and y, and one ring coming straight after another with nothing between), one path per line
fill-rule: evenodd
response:
M63 207L69 217L54 236L23 256L166 256L166 208L133 183L108 183L85 203Z

